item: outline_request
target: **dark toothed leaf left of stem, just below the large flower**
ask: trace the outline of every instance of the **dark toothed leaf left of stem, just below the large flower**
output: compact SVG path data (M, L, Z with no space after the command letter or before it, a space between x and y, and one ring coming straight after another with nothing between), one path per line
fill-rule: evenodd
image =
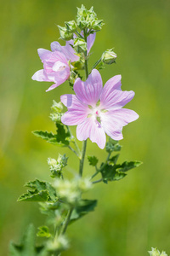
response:
M32 131L32 133L35 136L41 137L43 140L46 140L47 143L51 143L60 147L68 146L69 141L71 140L70 133L68 131L66 132L64 125L61 125L59 123L56 123L56 128L56 134L48 131Z

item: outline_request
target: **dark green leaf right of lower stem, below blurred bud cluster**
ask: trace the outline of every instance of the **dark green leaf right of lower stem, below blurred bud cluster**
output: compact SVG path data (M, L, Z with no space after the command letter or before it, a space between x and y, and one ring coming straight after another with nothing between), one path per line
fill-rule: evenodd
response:
M88 212L93 212L96 205L97 205L97 200L80 201L79 205L73 210L71 214L70 224L75 220L82 218L82 216L86 215Z

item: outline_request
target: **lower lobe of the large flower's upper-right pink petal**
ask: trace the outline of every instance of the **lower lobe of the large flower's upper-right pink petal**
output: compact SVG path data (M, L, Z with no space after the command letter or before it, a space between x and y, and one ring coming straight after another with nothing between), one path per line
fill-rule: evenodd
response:
M107 110L122 108L133 99L133 96L133 90L113 90L105 97L105 100L103 100L102 97L100 101L100 108L105 108Z

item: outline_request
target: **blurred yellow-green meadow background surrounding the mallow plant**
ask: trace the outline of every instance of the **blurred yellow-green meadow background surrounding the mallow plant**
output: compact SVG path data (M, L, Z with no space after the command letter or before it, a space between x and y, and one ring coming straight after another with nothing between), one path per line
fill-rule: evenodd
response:
M169 0L6 0L0 3L0 241L20 241L29 223L42 225L37 204L16 202L23 185L48 179L47 158L65 153L34 137L31 131L54 131L48 119L52 100L68 89L65 83L48 93L50 83L32 81L42 68L38 48L57 41L65 20L74 19L81 4L94 10L105 26L97 34L90 65L105 49L115 47L116 65L101 71L103 81L122 74L122 90L136 95L127 108L140 118L124 127L120 160L142 160L143 166L120 182L96 184L88 198L99 199L95 212L70 226L71 249L63 255L149 255L150 247L170 253L170 2ZM62 41L59 41L63 44ZM74 130L74 129L73 129ZM81 143L79 143L81 145ZM105 150L88 142L88 154L104 160ZM71 156L65 175L77 170ZM86 174L93 173L86 161Z

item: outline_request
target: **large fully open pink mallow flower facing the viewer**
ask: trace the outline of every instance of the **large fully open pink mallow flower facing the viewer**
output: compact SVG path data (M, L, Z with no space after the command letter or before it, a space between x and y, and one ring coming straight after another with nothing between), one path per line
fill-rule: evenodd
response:
M76 95L65 94L61 102L68 108L61 121L77 125L77 139L90 138L99 148L105 148L105 133L112 139L122 139L122 127L139 118L133 110L122 108L133 99L134 92L121 90L121 75L109 79L103 87L98 70L93 69L85 82L76 79Z

